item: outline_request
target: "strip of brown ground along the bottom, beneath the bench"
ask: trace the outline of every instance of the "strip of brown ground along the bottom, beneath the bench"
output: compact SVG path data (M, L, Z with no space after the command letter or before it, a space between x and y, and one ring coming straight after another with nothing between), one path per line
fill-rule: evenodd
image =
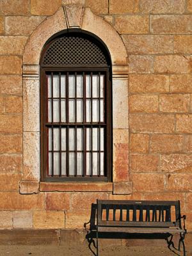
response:
M29 246L29 245L10 245L0 246L1 256L94 256L88 247L78 246L78 248L66 248L66 246L56 245L42 245L42 246ZM108 248L100 250L100 256L174 256L177 255L170 252L168 248L162 246L110 246ZM180 255L180 254L179 254ZM191 253L187 253L192 255Z

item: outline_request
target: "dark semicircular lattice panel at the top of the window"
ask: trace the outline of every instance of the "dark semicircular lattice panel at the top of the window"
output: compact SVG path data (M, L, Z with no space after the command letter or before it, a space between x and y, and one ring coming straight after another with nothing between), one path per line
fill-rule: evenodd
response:
M43 65L108 65L97 44L79 36L63 36L49 46Z

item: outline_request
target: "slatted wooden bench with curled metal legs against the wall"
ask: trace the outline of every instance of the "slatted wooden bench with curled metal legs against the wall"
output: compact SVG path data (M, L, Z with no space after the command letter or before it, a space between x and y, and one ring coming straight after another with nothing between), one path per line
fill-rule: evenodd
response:
M173 234L179 233L180 244L185 256L185 223L182 227L179 201L128 201L97 200L97 256L99 256L99 233L120 232L130 234ZM172 238L168 241L173 244Z

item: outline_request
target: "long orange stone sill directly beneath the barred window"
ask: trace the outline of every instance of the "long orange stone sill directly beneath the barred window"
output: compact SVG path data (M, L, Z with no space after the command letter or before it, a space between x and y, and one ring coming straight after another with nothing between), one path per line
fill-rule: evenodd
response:
M60 182L40 182L40 191L60 191L60 192L112 192L112 182L92 182L92 183L60 183Z

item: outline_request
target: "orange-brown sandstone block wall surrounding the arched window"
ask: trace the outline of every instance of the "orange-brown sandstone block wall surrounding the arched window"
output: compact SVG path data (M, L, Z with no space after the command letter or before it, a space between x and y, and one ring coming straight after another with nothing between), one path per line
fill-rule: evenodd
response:
M115 166L129 160L122 193L127 195L113 195L113 184L70 184L68 189L31 181L23 165L22 57L31 33L56 13L61 0L1 0L0 228L83 228L92 202L109 198L181 200L192 230L192 1L85 4L116 29L129 58L129 136L124 135L124 147L114 148L120 155ZM121 140L122 132L116 129L114 138Z

